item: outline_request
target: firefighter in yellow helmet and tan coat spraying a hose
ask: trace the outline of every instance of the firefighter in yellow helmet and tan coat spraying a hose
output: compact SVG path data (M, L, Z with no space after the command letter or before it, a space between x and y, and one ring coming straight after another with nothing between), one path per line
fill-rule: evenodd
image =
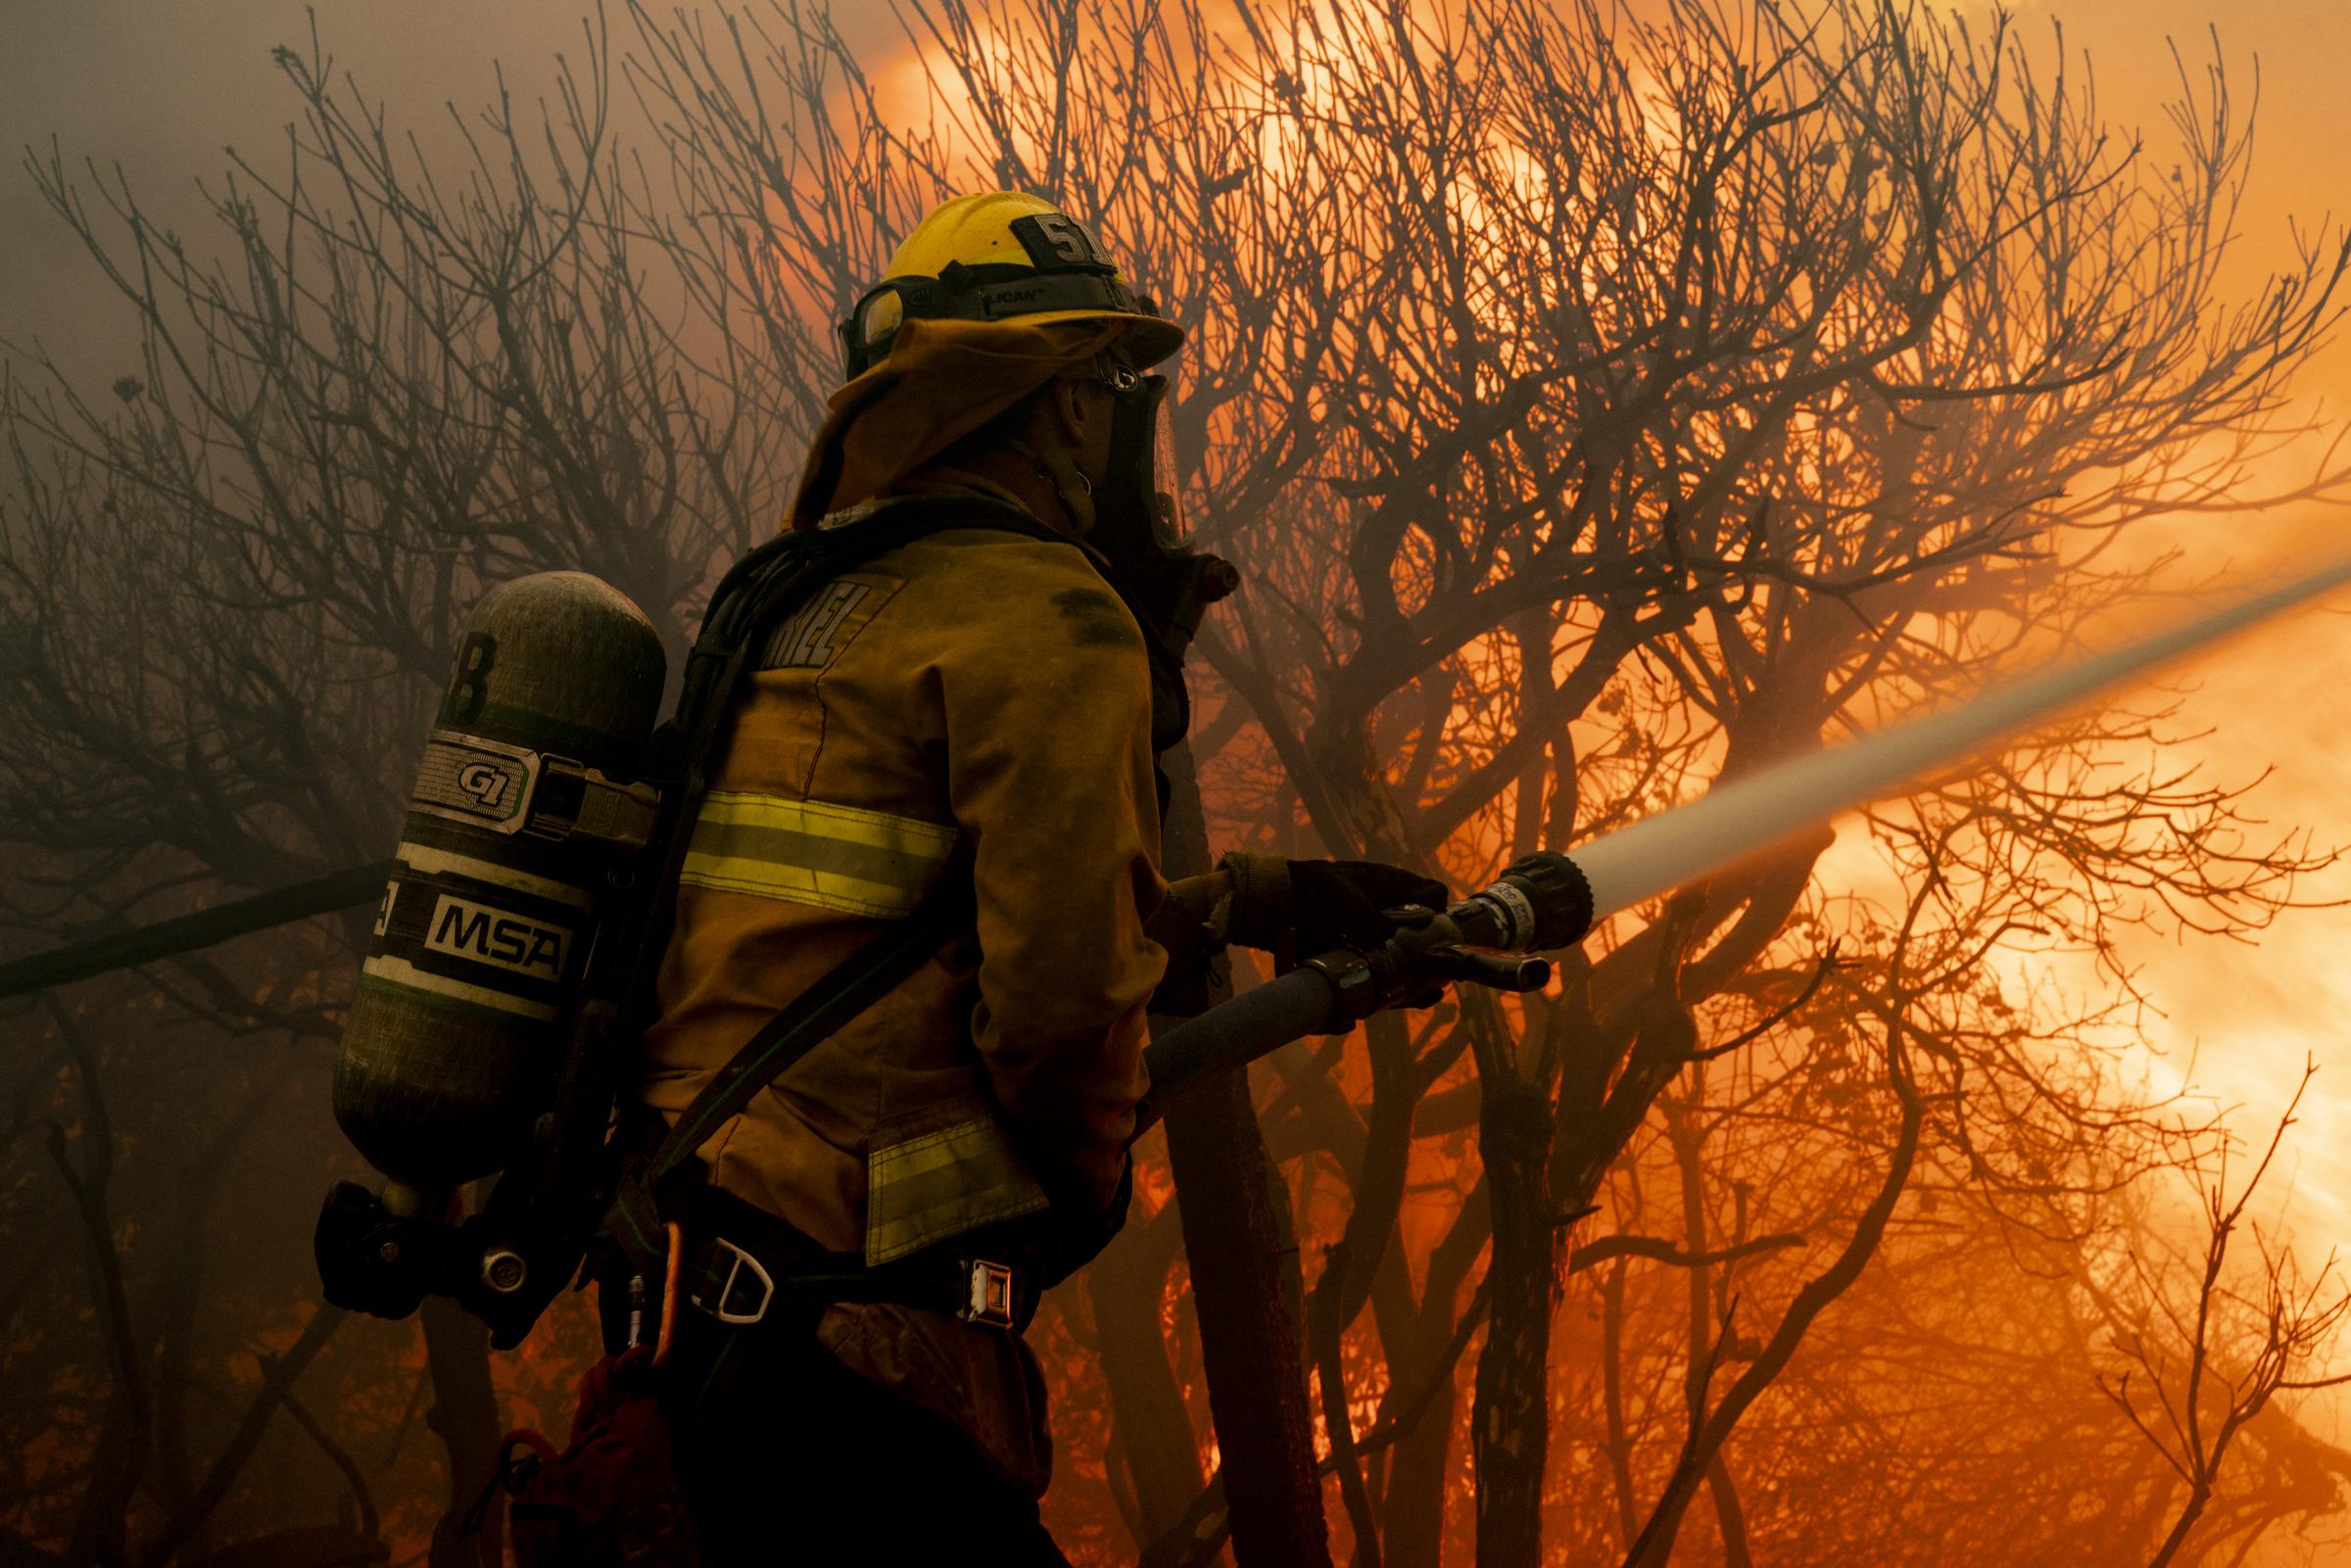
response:
M969 877L973 912L663 1194L689 1281L665 1401L710 1561L1065 1561L1020 1328L1124 1218L1171 950L1375 940L1378 910L1444 898L1359 863L1159 875L1187 635L1166 621L1197 616L1168 583L1197 585L1199 557L1150 367L1180 343L1084 226L1002 190L931 212L844 322L849 381L790 524L919 498L973 527L875 557L766 637L691 830L642 1103L675 1119L938 879ZM816 1255L882 1284L776 1305L764 1281Z

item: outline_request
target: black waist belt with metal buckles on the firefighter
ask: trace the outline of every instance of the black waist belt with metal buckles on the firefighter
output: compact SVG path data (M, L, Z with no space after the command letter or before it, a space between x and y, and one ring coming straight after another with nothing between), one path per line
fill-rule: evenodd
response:
M868 1267L863 1253L818 1251L795 1225L715 1187L684 1208L677 1295L738 1328L778 1307L889 1302L1009 1331L1034 1307L1025 1269L952 1246Z

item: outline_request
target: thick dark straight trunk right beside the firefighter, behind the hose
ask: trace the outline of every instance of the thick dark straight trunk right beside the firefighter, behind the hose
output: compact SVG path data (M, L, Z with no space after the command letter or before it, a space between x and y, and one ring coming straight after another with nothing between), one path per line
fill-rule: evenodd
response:
M1164 762L1173 785L1164 858L1180 877L1208 867L1208 827L1190 752L1176 748ZM1281 1211L1246 1072L1178 1103L1166 1128L1234 1561L1328 1563L1302 1335L1284 1288Z

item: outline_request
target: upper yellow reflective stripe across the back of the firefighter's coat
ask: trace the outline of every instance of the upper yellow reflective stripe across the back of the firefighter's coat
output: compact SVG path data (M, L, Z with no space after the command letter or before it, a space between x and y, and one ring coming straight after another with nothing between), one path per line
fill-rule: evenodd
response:
M785 795L710 790L679 882L844 914L912 914L957 830Z

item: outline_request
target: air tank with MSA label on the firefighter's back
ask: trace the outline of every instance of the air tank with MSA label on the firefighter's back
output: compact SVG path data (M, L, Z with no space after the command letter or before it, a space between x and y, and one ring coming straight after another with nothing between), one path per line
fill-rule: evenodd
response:
M343 1027L334 1117L395 1182L505 1168L548 1110L567 1001L642 849L661 637L583 571L475 607Z

